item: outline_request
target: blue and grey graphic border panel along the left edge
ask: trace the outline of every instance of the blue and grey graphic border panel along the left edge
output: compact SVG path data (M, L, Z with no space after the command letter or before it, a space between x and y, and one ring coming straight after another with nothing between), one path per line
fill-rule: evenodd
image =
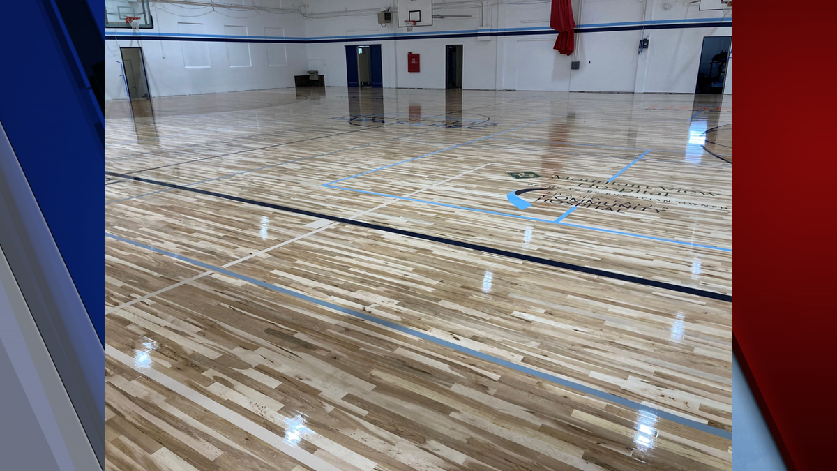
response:
M3 289L25 303L0 310L0 320L24 326L28 318L39 335L26 348L0 339L15 365L0 370L0 390L28 385L27 394L45 391L52 401L28 396L40 416L26 424L50 448L5 450L6 464L8 453L51 451L59 469L104 468L104 30L96 19L104 8L96 0L0 1L0 248L13 274ZM48 356L20 360L35 359L39 343ZM71 404L69 415L56 394ZM0 416L11 417L10 407L0 401ZM0 420L3 433L23 425Z

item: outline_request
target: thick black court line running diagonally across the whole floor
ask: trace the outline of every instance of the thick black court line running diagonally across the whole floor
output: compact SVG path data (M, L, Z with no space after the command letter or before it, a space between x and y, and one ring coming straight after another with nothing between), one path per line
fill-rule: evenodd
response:
M703 289L697 289L697 288L694 288L694 287L683 287L683 286L680 286L680 285L675 285L673 283L658 282L658 281L649 280L649 279L643 278L643 277L634 277L634 276L631 276L631 275L624 275L622 273L608 272L607 270L600 270L598 268L583 267L581 265L575 265L573 263L567 263L567 262L564 262L564 261L549 260L548 258L542 258L542 257L539 257L539 256L523 255L523 254L519 254L519 253L516 253L516 252L513 252L513 251L505 251L505 250L502 250L502 249L496 249L494 247L489 247L489 246L480 246L478 244L472 244L470 242L455 241L453 239L448 239L446 237L439 237L439 236L436 236L436 235L426 235L426 234L422 234L420 232L413 232L412 230L396 229L396 228L393 228L393 227L388 227L386 225L377 225L377 224L371 224L371 223L368 223L368 222L362 222L362 221L357 221L357 220L350 220L350 219L346 219L346 218L341 218L341 217L338 217L338 216L324 215L324 214L321 214L321 213L317 213L315 211L300 210L298 208L291 208L290 206L283 206L283 205L280 205L280 204L265 203L264 201L258 201L256 199L241 198L239 196L233 196L231 194L217 193L217 192L208 191L208 190L205 190L205 189L190 188L190 187L186 187L186 186L182 186L182 185L178 185L178 184L170 184L170 183L161 182L161 181L158 181L158 180L144 179L142 177L136 177L136 176L132 176L132 175L125 175L125 174L121 174L121 173L113 173L113 172L105 171L105 174L110 175L112 177L132 179L132 180L140 181L140 182L143 182L143 183L146 183L146 184L156 184L156 185L164 186L164 187L171 188L171 189L182 189L183 191L189 191L189 192L192 192L192 193L206 194L208 196L214 196L216 198L222 198L222 199L229 199L230 201L237 201L239 203L254 204L254 205L257 205L257 206L262 206L264 208L271 208L271 209L274 209L274 210L286 211L286 212L294 213L294 214L297 214L297 215L306 215L306 216L311 216L313 218L318 218L318 219L333 220L335 222L340 222L342 224L357 225L358 227L365 227L367 229L380 230L382 232L389 232L389 233L398 234L398 235L406 235L408 237L413 237L415 239L422 239L424 241L438 242L438 243L441 243L441 244L447 244L449 246L457 246L457 247L462 247L462 248L465 248L465 249L471 249L471 250L474 250L474 251L481 251L481 252L490 253L490 254L494 254L494 255L506 256L506 257L509 257L509 258L514 258L516 260L531 261L533 263L538 263L540 265L546 265L548 267L557 267L557 268L562 268L564 270L571 270L573 272L587 273L588 275L594 275L594 276L597 276L597 277L606 277L606 278L612 278L614 280L620 280L620 281L624 281L624 282L632 282L632 283L645 285L645 286L650 286L650 287L659 287L661 289L665 289L665 290L668 290L668 291L683 292L683 293L686 293L686 294L691 294L693 296L699 296L701 298L711 298L711 299L717 299L719 301L726 301L727 303L732 303L732 296L730 296L728 294L721 294L720 292L711 292L711 291L706 291L706 290L703 290Z

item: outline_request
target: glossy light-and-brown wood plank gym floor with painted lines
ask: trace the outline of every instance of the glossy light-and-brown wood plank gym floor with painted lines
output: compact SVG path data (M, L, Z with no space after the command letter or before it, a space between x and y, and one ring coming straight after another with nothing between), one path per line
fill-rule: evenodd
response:
M108 469L732 469L731 96L105 116Z

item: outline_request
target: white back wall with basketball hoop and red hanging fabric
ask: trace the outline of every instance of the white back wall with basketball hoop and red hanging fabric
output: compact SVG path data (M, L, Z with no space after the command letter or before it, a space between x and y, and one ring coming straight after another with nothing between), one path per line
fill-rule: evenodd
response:
M482 26L485 28L531 28L549 25L551 3L483 2ZM435 18L434 25L414 28L413 33L475 30L480 28L480 9L439 8L434 13L470 15L470 18ZM665 4L671 8L664 9ZM394 24L381 28L377 17L341 16L316 18L316 14L338 10L396 7L389 0L306 1L306 37L404 34L405 28ZM573 12L579 25L624 23L686 18L720 18L720 11L700 11L697 4L686 6L674 0L573 0ZM393 15L394 16L394 15ZM464 45L463 85L467 89L542 90L542 91L636 91L693 93L697 79L704 36L731 36L732 28L646 29L644 32L608 31L578 34L575 59L579 70L570 70L573 58L552 49L556 36L500 36L480 41L475 38L399 39L354 43L308 44L310 59L325 60L326 85L345 86L345 44L382 44L383 84L385 87L444 88L444 46ZM650 48L638 54L639 39L648 37ZM421 72L407 72L407 53L421 54ZM396 69L397 67L397 69ZM732 92L732 74L727 75L725 91Z

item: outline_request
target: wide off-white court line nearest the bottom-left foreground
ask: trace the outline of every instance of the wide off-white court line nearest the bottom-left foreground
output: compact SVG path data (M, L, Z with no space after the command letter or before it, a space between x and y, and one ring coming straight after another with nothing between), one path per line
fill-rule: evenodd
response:
M223 418L223 420L233 424L235 427L239 427L244 430L244 432L248 432L254 437L259 438L259 440L262 440L264 443L270 444L281 453L285 453L290 458L294 458L296 461L304 464L314 471L341 471L333 464L326 463L326 461L322 458L316 457L302 448L286 443L284 437L276 435L274 432L270 432L268 429L259 426L259 424L251 422L248 418L240 415L238 412L218 404L218 402L213 401L208 396L204 396L189 386L182 384L180 381L165 375L162 371L154 370L153 368L137 368L133 357L122 353L114 347L111 347L110 344L105 344L105 355L109 355L114 360L117 360L123 365L131 368L131 370L139 371L142 375L146 375L149 379L156 381L162 386L166 386L176 394L185 397L189 401L193 401L198 406L201 406L216 416Z

